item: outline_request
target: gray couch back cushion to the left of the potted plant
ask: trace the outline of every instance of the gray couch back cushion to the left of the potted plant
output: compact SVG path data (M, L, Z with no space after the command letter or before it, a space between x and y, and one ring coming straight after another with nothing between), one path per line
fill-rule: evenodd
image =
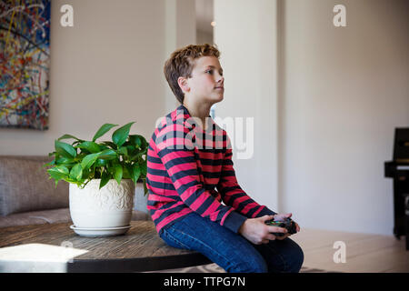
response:
M0 156L0 216L68 207L68 183L48 179L47 156Z

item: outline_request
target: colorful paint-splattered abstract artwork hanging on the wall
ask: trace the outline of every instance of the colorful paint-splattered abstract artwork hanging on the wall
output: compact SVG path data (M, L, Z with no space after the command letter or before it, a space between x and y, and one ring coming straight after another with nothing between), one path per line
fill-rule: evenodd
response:
M48 128L50 2L0 1L0 126Z

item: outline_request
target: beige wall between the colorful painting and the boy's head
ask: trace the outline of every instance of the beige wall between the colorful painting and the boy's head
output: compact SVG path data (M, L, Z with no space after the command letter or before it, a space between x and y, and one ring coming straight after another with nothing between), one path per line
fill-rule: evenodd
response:
M60 25L64 4L74 7L74 27ZM49 130L0 128L0 155L47 155L55 138L90 139L104 123L136 121L131 134L149 141L167 113L163 67L173 37L195 42L195 15L183 16L195 6L181 7L165 0L53 0ZM173 35L170 24L178 25Z

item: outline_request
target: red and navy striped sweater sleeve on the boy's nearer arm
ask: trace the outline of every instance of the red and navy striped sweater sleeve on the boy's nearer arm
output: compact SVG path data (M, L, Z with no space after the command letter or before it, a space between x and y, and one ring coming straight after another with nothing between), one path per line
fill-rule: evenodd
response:
M247 217L235 212L231 206L224 206L205 190L200 180L193 146L185 144L189 138L186 138L183 129L178 134L183 135L158 135L155 143L157 156L164 164L178 195L195 213L237 233Z

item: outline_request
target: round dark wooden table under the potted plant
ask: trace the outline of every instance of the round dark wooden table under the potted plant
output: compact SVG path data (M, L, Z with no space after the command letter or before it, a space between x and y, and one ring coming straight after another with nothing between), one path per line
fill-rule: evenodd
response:
M0 272L144 272L212 263L167 246L152 221L132 221L125 235L108 237L78 236L70 225L0 228Z

